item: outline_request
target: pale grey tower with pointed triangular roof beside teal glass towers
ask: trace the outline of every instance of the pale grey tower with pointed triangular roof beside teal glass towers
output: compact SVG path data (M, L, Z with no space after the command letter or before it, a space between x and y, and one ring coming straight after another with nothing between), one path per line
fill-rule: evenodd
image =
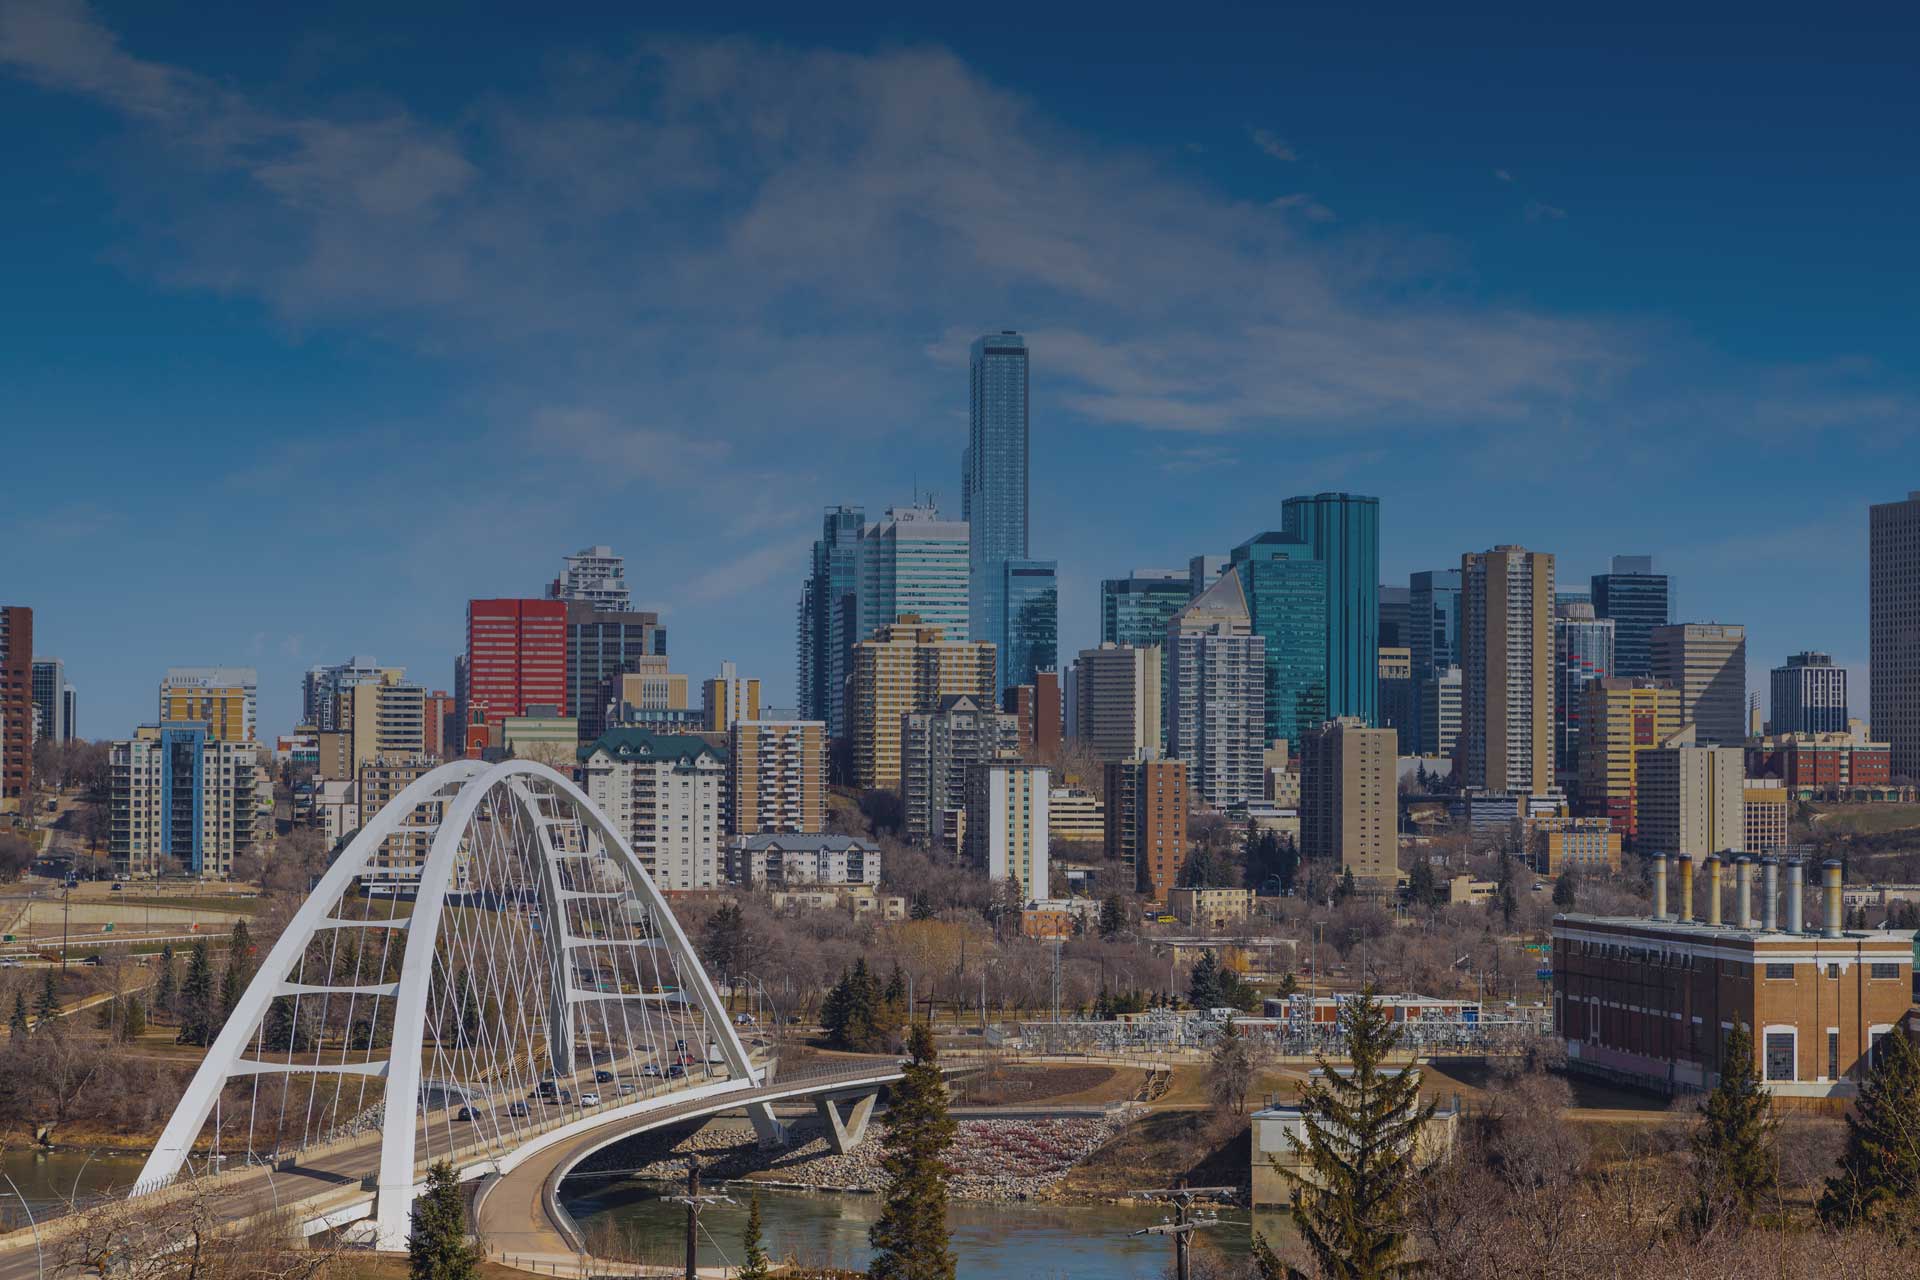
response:
M1187 762L1194 793L1213 810L1261 794L1267 656L1240 591L1242 568L1167 628L1167 754Z

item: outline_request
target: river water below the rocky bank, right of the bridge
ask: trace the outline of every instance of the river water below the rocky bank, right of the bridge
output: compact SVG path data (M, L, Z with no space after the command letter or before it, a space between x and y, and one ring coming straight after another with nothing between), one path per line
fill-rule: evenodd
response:
M730 1184L741 1197L747 1188ZM685 1257L685 1209L662 1199L674 1188L657 1182L576 1178L563 1188L566 1211L589 1234L611 1232L622 1251L647 1263ZM1165 1236L1131 1232L1164 1221L1164 1205L987 1205L952 1201L948 1226L960 1274L968 1280L1160 1280L1173 1261ZM766 1251L781 1259L864 1270L866 1228L879 1215L877 1196L829 1192L760 1192ZM1202 1232L1210 1245L1246 1255L1252 1226L1246 1209L1221 1211L1221 1224ZM739 1263L747 1205L701 1213L701 1265ZM1269 1238L1286 1230L1284 1215L1260 1213Z

